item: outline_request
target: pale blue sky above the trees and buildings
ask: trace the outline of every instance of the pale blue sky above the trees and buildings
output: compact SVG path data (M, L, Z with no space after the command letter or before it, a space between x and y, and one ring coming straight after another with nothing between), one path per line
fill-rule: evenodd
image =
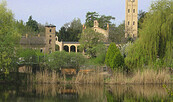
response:
M3 0L0 0L0 2ZM14 13L16 20L28 21L30 15L41 24L56 25L57 31L74 18L85 22L87 12L113 16L119 25L125 20L125 0L6 0L7 8ZM156 0L138 0L138 10L148 11Z

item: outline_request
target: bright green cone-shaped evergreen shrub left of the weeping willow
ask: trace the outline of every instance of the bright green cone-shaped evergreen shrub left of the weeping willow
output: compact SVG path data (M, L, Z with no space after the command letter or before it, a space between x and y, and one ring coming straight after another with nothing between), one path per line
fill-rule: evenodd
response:
M115 43L111 43L108 48L105 64L111 68L118 68L124 65L124 58Z

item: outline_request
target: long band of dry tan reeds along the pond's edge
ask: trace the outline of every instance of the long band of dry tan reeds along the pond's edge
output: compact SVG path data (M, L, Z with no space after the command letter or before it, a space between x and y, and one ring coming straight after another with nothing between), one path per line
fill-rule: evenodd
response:
M40 84L168 84L172 83L170 73L166 70L145 69L133 72L132 75L123 72L114 72L111 76L105 76L99 68L91 72L79 72L71 80L67 80L66 75L59 76L56 71L44 70L29 77L29 82Z

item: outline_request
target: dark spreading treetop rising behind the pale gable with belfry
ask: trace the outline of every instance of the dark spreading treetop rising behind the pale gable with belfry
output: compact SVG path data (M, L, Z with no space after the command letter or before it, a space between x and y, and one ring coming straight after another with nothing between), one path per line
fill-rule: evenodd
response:
M87 28L94 26L94 20L98 20L100 28L107 29L107 24L113 25L111 20L115 20L115 17L99 15L97 12L87 12L85 20Z

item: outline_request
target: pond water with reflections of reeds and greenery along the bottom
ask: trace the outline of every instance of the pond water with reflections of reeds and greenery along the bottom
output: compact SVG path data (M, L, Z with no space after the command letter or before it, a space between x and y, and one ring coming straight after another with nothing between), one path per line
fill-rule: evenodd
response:
M169 85L172 87L172 85ZM0 85L0 102L171 102L162 85Z

